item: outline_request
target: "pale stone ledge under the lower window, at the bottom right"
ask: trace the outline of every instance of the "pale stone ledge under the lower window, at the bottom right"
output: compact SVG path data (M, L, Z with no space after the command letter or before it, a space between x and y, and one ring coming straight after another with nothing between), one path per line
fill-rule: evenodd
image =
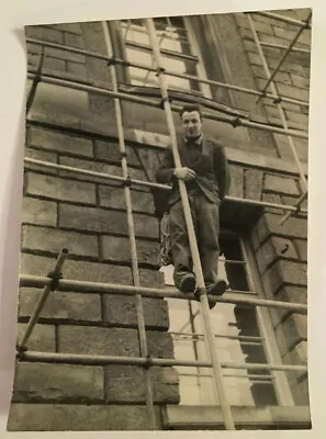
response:
M231 407L237 429L311 429L311 414L306 406L297 407ZM224 430L220 406L169 405L162 409L165 430Z

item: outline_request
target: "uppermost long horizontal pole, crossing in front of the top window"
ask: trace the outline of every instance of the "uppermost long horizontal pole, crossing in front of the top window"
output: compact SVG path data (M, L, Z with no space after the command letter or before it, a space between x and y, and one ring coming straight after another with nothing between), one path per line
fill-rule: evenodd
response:
M153 71L153 72L157 72L157 69L155 67L151 66L146 66L143 64L138 64L138 63L131 63L131 61L126 61L124 59L120 59L120 58L115 58L115 57L108 57L101 54L97 54L94 52L89 52L89 50L83 50L83 49L79 49L79 48L75 48L75 47L69 47L69 46L64 46L61 44L56 44L56 43L49 43L49 42L44 42L42 40L33 40L33 38L26 38L27 43L33 43L33 44L38 44L45 47L52 47L52 48L57 48L60 50L66 50L66 52L71 52L75 54L79 54L79 55L85 55L85 56L89 56L89 57L93 57L97 59L101 59L104 60L106 63L116 63L120 64L122 66L125 67L135 67L142 70L147 70L147 71ZM247 89L244 87L238 87L238 86L234 86L231 83L225 83L225 82L221 82L221 81L214 81L211 79L203 79L203 78L198 78L195 76L192 75L188 75L188 74L179 74L177 71L172 71L172 70L166 70L165 71L166 75L168 76L173 76L176 78L181 78L181 79L189 79L191 81L196 81L199 83L206 83L209 86L215 86L215 87L221 87L221 88L225 88L228 90L235 90L241 93L246 93L246 94L251 94L251 95L257 95L260 97L262 95L261 91L258 90L254 90L254 89ZM271 99L271 100L276 100L277 97L272 93L266 93L263 95L267 99ZM304 106L310 106L310 102L306 101L301 101L297 99L292 99L292 98L288 98L288 97L281 97L280 98L283 102L288 102L288 103L293 103L293 104L297 104L297 105L304 105Z

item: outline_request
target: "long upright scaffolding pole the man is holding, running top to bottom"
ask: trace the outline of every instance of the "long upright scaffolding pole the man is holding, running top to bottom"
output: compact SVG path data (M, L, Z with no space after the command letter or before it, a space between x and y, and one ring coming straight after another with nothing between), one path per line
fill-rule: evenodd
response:
M153 19L146 19L146 26L147 26L148 34L149 34L149 42L150 42L150 45L153 48L154 58L156 60L157 74L158 74L161 98L162 98L161 102L162 102L162 106L164 106L164 110L165 110L166 116L167 116L167 124L168 124L168 128L169 128L169 133L170 133L170 137L171 137L175 165L176 165L176 167L181 167L180 156L179 156L179 151L178 151L177 134L176 134L176 128L175 128L175 123L173 123L171 105L169 102L168 87L167 87L166 77L165 77L165 68L161 63L161 55L160 55L160 50L159 50L158 43L157 43L156 30L155 30ZM203 272L202 272L202 268L201 268L201 260L200 260L193 222L192 222L192 217L191 217L188 193L187 193L186 184L182 180L179 180L179 189L180 189L181 202L182 202L182 206L183 206L183 213L184 213L187 230L188 230L188 236L189 236L191 256L192 256L193 266L194 266L194 273L196 277L198 288L199 288L200 297L201 297L200 300L201 300L201 308L202 308L203 323L204 323L204 329L205 329L205 341L207 345L209 357L211 358L212 365L213 365L214 387L216 391L217 401L220 399L220 403L221 403L225 428L227 430L235 430L235 424L233 420L231 407L228 405L225 389L223 385L222 368L221 368L220 361L216 356L215 340L214 340L214 335L213 335L212 325L211 325L211 317L210 317L207 292L206 292Z

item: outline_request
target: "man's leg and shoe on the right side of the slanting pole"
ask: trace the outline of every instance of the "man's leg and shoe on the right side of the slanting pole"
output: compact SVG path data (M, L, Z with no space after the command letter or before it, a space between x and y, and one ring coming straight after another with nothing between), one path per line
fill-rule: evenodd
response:
M198 236L202 270L207 293L223 294L226 282L218 280L220 207L204 196L198 199Z

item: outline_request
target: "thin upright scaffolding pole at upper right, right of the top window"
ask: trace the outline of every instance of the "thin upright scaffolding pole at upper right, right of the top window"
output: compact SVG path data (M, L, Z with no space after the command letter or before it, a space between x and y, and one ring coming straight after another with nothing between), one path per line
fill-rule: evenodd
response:
M279 110L280 119L282 121L284 130L289 130L289 125L288 125L288 122L286 122L285 113L284 113L284 110L283 110L281 103L280 103L280 97L278 94L277 87L276 87L274 82L272 80L270 80L272 78L272 75L270 74L266 57L263 55L263 52L262 52L262 48L261 48L257 32L256 32L256 29L255 29L255 25L254 25L254 22L252 22L252 19L251 19L249 13L247 14L247 18L248 18L249 26L250 26L250 30L251 30L251 33L252 33L252 37L254 37L257 50L259 53L259 56L260 56L260 59L261 59L261 63L262 63L262 66L263 66L265 72L266 72L266 77L270 81L269 86L271 87L272 93L276 95L276 104L277 104L277 108ZM305 198L304 194L307 192L307 181L306 181L305 175L304 175L304 172L302 170L302 167L301 167L301 164L300 164L300 160L299 160L299 157L297 157L297 153L296 153L296 149L295 149L295 145L294 145L294 142L293 142L293 138L291 137L291 135L288 135L288 140L289 140L289 145L290 145L291 151L292 151L293 157L294 157L295 165L296 165L297 170L299 170L300 182L301 182L301 188L302 188L301 200L303 201L304 198Z

